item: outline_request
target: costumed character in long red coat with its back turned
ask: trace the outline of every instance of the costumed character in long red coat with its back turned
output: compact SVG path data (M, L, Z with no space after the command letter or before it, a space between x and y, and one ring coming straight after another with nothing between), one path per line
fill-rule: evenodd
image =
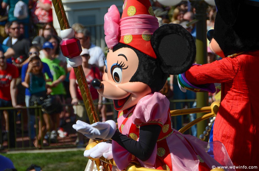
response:
M182 87L196 91L207 83L221 83L213 141L224 144L235 166L258 166L259 32L254 17L259 2L215 2L218 12L214 32L208 32L213 37L210 48L223 59L194 65L178 75L178 81ZM212 86L208 91L214 90Z

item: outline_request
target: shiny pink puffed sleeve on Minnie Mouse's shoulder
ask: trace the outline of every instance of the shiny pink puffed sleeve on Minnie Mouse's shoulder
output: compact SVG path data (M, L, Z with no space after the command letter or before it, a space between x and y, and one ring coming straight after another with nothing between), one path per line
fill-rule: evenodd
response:
M132 114L132 123L135 125L163 124L167 120L169 100L161 93L148 94L139 100Z

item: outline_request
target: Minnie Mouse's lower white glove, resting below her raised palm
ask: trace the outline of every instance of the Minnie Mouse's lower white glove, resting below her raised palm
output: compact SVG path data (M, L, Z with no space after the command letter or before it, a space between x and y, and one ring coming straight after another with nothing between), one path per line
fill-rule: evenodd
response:
M104 156L104 158L110 160L113 158L112 144L109 142L98 143L93 148L85 150L84 156L92 158L100 158L101 156Z

